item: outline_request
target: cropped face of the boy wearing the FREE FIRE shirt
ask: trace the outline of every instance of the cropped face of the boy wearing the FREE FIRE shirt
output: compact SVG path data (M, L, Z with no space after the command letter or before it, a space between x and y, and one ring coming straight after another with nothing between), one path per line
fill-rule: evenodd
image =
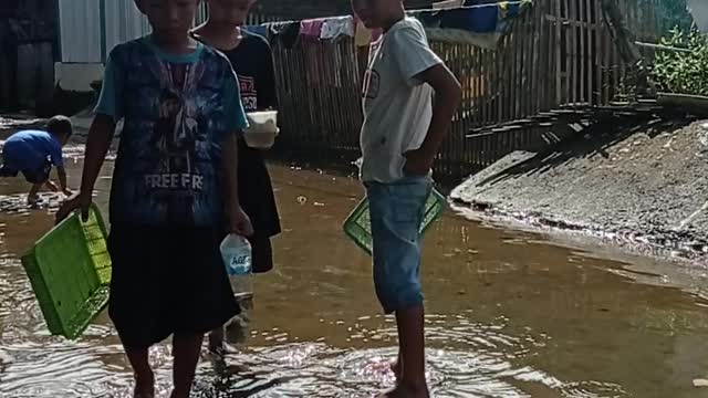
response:
M135 0L140 11L147 15L153 31L168 38L186 34L197 14L200 0Z

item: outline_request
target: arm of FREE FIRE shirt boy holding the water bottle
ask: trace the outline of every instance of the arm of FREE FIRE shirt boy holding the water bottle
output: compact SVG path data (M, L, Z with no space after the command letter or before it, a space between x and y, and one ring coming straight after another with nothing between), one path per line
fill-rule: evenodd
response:
M253 226L239 202L238 146L236 134L223 139L221 148L222 184L225 187L225 211L229 233L250 237Z

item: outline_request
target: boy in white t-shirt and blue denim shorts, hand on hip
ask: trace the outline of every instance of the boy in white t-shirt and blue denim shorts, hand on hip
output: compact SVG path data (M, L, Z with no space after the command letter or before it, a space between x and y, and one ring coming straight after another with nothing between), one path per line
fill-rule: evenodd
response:
M374 284L398 323L397 387L383 397L428 397L424 308L419 281L420 233L433 188L431 166L461 98L460 84L430 50L423 25L406 18L403 0L352 0L369 29L364 78L362 180L374 239Z

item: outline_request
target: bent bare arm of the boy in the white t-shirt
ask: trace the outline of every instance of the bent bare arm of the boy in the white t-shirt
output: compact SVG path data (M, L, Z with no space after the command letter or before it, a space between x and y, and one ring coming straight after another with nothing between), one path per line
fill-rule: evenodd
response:
M429 84L435 91L433 119L423 145L406 156L406 172L425 176L433 167L440 145L452 123L462 98L462 88L452 72L445 64L437 64L416 76L416 80Z

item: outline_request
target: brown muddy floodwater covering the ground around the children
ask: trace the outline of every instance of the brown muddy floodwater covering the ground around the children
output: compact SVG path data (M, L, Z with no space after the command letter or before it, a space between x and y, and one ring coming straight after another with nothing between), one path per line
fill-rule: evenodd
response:
M104 211L111 167L96 187ZM70 175L76 187L79 163ZM369 258L341 232L362 189L326 174L272 175L284 228L275 271L257 279L248 344L226 363L205 352L194 396L371 397L393 383L396 332ZM25 189L0 180L0 397L129 397L105 315L77 342L48 334L18 259L50 229L55 198L30 211L19 205ZM435 397L708 397L691 384L708 375L708 302L638 282L625 265L442 217L423 268ZM166 397L169 346L152 356Z

